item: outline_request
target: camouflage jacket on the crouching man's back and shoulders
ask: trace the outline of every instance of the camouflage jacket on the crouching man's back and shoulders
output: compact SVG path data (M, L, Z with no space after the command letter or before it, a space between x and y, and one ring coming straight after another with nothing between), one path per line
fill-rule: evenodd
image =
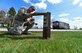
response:
M25 9L24 10L20 9L17 15L15 16L15 20L25 22L27 21L27 18L29 18L29 16L30 16L29 12L27 12Z

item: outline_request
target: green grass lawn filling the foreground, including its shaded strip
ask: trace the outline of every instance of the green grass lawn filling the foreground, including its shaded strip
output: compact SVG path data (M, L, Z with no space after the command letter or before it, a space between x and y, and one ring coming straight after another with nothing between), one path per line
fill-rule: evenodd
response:
M51 32L49 39L42 39L41 33L11 36L0 32L0 53L82 53L81 31Z

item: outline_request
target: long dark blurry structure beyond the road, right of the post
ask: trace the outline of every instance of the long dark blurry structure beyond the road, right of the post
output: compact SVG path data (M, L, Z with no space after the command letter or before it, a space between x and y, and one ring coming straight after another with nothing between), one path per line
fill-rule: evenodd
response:
M52 23L53 29L70 29L69 24L65 22L54 21Z

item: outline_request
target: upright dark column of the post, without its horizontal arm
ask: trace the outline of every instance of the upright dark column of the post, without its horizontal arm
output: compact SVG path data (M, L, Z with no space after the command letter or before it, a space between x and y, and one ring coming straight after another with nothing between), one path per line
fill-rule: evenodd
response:
M50 38L50 23L51 23L51 14L49 12L47 12L45 15L44 15L44 18L43 18L43 37L44 38Z

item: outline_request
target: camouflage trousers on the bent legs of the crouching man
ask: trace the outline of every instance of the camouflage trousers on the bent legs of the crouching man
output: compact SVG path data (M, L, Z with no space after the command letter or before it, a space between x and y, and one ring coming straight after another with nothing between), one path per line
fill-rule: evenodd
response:
M22 34L28 33L28 30L33 27L34 22L30 23L29 21L20 22L18 20L14 20L13 25L13 27L7 27L8 32L10 34Z

